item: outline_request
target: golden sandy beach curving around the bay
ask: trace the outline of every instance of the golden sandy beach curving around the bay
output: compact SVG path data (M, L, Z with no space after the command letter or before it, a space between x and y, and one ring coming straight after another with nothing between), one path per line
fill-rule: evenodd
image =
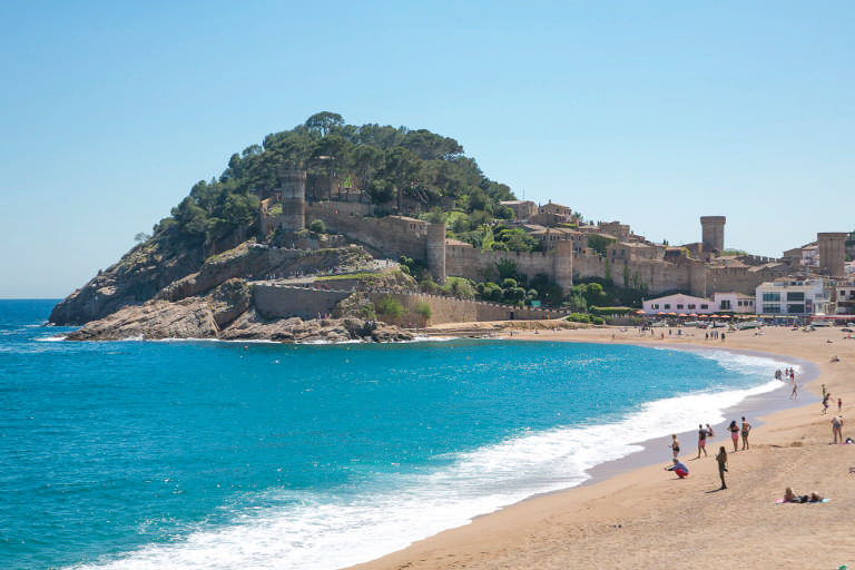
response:
M514 324L513 338L787 355L813 363L815 377L796 379L797 402L789 400L789 389L768 396L775 401L765 409L777 412L751 416L764 409L763 402L731 411L733 419L747 415L755 426L749 450L733 453L729 435L719 428L707 443L709 456L696 460L696 426L687 425L680 435L680 459L690 470L686 479L662 469L666 442L655 442L656 452L649 448L598 468L591 484L531 498L353 569L855 568L855 473L849 473L855 445L833 445L831 425L842 397L843 436L855 438L855 416L849 419L855 409L855 338L844 338L847 333L838 327L767 327L761 334L727 333L723 342L705 340L704 331L694 328L684 336L666 332L661 340L659 332L641 336L633 328L553 331L546 323L537 325L543 328ZM500 324L470 331L504 337L508 332ZM822 384L833 395L827 415L820 413ZM728 450L726 490L719 490L714 459L719 445ZM799 494L816 491L829 501L776 503L786 487Z

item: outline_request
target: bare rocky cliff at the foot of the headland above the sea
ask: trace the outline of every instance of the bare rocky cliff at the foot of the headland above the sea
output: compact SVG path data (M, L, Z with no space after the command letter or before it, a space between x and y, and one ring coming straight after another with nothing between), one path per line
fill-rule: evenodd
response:
M207 259L200 257L198 250L177 254L164 242L149 240L58 304L50 322L83 324L68 336L73 341L412 340L403 330L362 321L346 308L340 312L342 318L313 321L267 320L255 311L248 278L358 271L372 261L361 247L307 252L246 242Z

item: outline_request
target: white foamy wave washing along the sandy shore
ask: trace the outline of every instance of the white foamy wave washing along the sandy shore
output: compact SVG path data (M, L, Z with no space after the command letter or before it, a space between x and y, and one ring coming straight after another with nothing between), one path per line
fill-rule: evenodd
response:
M724 357L734 366L769 365ZM148 544L118 559L75 570L159 568L334 570L405 548L534 494L579 485L588 471L642 449L641 442L719 424L746 397L784 385L772 380L740 390L698 391L640 405L613 422L583 421L525 431L483 448L442 458L421 473L377 475L370 489L341 493L268 490L232 507L230 522L199 525L184 539ZM694 433L694 432L692 432ZM664 455L667 453L664 450Z

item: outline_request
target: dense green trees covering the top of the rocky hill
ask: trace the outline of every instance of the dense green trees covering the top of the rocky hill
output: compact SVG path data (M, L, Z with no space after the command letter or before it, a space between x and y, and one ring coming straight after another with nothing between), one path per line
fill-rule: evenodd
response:
M278 187L282 168L335 173L375 204L400 193L436 213L441 198L453 198L468 220L462 230L499 215L499 200L513 199L511 189L487 178L453 138L425 129L347 125L341 115L325 111L232 155L219 178L197 183L171 216L155 226L155 235L177 234L185 243L200 244L252 228L258 193Z

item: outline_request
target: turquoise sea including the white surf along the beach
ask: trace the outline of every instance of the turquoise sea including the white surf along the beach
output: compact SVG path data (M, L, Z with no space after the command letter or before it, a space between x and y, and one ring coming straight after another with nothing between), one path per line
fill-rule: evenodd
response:
M3 569L341 568L718 424L793 364L510 341L69 343L42 326L55 303L0 301Z

